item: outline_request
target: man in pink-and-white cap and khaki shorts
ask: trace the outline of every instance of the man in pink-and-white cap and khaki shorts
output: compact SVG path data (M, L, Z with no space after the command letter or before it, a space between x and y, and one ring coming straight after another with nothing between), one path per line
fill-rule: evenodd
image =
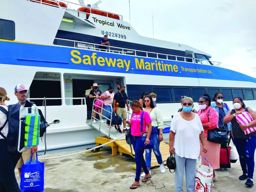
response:
M24 84L18 84L14 88L14 94L17 97L19 103L23 102L27 98L27 87ZM25 104L24 104L25 105ZM35 153L37 152L37 146L32 147L30 150L22 152L22 156L17 163L16 168L19 170L19 175L21 177L21 166L28 160L30 160L31 154L33 153L32 161L35 160Z

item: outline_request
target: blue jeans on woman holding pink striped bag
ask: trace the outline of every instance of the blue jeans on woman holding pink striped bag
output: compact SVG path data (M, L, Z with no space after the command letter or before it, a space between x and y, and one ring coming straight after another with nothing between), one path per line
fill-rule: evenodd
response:
M256 137L251 136L246 139L234 138L234 145L239 154L239 161L243 173L248 174L248 178L253 179Z

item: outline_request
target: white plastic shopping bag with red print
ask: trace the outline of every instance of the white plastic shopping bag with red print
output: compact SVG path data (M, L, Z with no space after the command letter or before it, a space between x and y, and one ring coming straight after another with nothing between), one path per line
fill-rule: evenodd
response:
M208 162L208 160L205 158ZM209 162L208 162L209 163ZM199 166L195 174L195 192L212 192L213 185L213 168L209 163L208 166L202 165L202 157L199 156Z

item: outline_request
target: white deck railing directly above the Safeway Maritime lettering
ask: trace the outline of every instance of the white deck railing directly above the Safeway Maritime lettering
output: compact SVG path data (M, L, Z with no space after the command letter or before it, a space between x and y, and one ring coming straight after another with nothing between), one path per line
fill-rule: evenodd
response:
M80 49L104 51L104 52L123 54L123 55L147 57L147 58L153 58L153 59L165 59L165 60L170 60L170 61L180 61L180 62L196 63L196 64L203 64L203 65L220 66L220 64L221 64L221 62L217 62L217 61L196 59L196 58L191 58L191 57L169 55L169 54L164 54L164 53L142 51L142 50L136 50L136 49L128 49L128 48L123 48L123 47L106 46L106 45L100 45L100 44L89 43L89 42L84 42L84 41L76 41L76 40L71 40L71 39L55 38L55 40L69 41L69 42L71 42L69 47L75 47L75 48L80 48ZM58 44L58 43L60 43L60 44ZM58 42L58 43L56 42L56 45L61 46L61 42ZM65 46L65 45L63 45L63 46ZM104 47L106 47L106 49L99 48L99 46L104 46Z

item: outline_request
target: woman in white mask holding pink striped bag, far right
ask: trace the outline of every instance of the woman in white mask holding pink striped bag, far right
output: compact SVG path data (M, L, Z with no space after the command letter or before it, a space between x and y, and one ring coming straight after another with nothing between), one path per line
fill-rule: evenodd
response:
M231 122L232 134L234 138L234 144L239 154L240 165L243 170L243 174L239 177L239 180L247 179L245 185L253 186L253 172L254 172L254 153L256 149L256 132L245 134L243 130L248 127L256 126L256 114L249 108L245 107L245 104L241 97L233 98L234 109L230 110L224 118L224 123ZM236 115L241 114L242 111L248 112L253 121L248 124L239 125L236 121Z

